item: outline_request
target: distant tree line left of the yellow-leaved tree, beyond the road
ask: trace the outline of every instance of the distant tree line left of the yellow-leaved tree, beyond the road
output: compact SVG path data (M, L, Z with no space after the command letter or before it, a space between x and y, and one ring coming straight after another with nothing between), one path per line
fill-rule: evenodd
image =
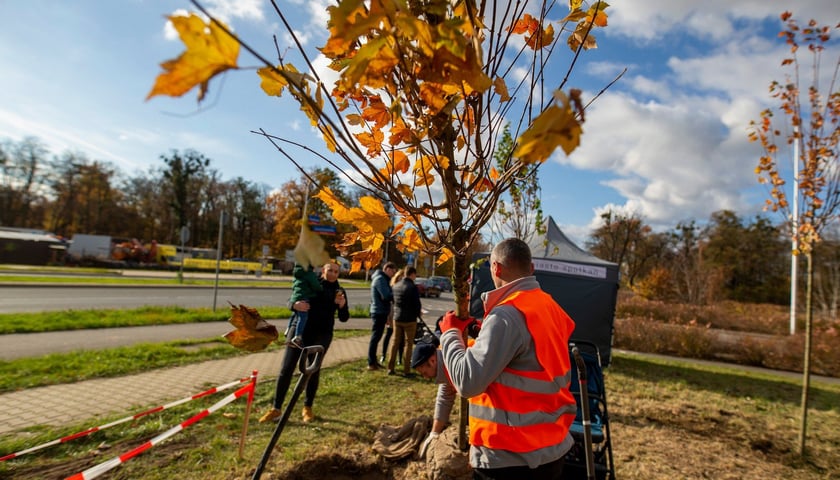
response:
M0 141L0 225L72 238L100 234L177 244L182 226L191 246L215 247L221 212L224 254L249 257L273 230L267 187L222 180L193 150L161 155L161 164L126 175L84 153L51 155L37 138Z

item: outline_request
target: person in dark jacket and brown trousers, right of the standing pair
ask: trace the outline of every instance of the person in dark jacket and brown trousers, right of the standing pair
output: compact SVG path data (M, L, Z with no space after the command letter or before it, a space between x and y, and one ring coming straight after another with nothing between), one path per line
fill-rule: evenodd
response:
M414 284L417 269L405 267L405 276L394 286L394 343L391 358L388 359L388 375L394 375L394 363L400 352L400 344L405 345L402 357L403 373L411 373L411 353L414 349L414 335L417 333L417 318L420 317L420 291Z

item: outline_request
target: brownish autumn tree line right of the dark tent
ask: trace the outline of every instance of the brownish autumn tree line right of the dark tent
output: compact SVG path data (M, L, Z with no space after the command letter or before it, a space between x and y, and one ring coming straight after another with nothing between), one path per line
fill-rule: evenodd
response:
M586 242L587 249L619 265L623 288L657 300L706 304L719 300L790 302L791 240L766 217L744 221L735 212L712 213L709 221L678 223L655 232L637 214L608 211ZM815 306L837 318L840 305L840 235L818 247Z

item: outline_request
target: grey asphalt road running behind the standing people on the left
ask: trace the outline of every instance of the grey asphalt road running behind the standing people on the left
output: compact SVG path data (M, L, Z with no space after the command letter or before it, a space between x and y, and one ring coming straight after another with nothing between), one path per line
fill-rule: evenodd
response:
M0 313L44 312L56 310L88 310L137 308L142 306L181 306L185 308L212 308L215 295L217 309L227 309L228 302L235 305L260 307L286 305L291 290L272 287L220 287L214 293L212 286L33 286L0 285ZM350 305L369 305L368 289L348 289ZM440 298L423 298L427 318L437 318L453 308L451 293Z

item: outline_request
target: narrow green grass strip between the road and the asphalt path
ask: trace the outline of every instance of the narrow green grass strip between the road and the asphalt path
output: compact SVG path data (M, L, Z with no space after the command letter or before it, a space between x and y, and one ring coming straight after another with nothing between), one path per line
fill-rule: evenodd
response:
M286 307L256 307L263 318L288 318ZM352 307L351 318L367 318L368 306ZM230 309L183 307L141 307L130 310L61 310L37 313L0 314L0 335L38 333L91 328L137 327L178 323L218 322L230 318Z

